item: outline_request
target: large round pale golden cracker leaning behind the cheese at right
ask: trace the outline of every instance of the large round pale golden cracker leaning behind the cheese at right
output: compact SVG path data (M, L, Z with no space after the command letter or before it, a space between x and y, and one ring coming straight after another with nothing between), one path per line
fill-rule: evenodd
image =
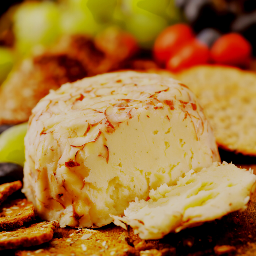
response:
M199 98L218 146L256 156L256 74L232 67L197 66L177 74Z

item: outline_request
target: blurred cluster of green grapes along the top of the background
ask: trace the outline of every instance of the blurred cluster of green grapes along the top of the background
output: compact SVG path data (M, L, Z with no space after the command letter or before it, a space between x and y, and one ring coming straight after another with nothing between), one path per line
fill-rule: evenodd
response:
M29 51L37 44L48 45L61 34L95 35L118 25L131 32L144 48L168 25L180 21L174 0L66 0L20 5L14 16L16 47Z

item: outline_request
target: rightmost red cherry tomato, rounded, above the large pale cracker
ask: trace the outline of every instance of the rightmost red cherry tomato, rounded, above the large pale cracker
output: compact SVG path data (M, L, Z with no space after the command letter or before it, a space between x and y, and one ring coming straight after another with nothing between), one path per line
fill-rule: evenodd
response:
M211 48L214 62L224 65L244 65L251 57L251 44L240 34L229 33L216 40Z

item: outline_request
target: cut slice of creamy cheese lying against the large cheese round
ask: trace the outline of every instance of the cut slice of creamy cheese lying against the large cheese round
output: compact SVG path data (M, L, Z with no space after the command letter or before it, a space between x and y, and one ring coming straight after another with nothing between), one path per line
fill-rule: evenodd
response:
M229 212L245 210L255 190L256 176L251 168L237 168L226 162L213 163L199 173L190 170L177 185L161 185L149 193L148 201L135 199L124 211L112 216L126 229L129 224L142 239L160 239L203 222L219 219Z

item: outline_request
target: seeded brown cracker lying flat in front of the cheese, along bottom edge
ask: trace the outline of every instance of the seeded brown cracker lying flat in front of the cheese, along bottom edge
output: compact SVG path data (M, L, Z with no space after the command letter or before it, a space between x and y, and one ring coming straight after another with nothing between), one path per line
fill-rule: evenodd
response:
M17 251L16 256L53 256L61 255L98 255L98 256L125 256L134 255L134 247L125 241L114 240L102 232L90 229L80 229L67 238L55 238L46 246L33 251Z

